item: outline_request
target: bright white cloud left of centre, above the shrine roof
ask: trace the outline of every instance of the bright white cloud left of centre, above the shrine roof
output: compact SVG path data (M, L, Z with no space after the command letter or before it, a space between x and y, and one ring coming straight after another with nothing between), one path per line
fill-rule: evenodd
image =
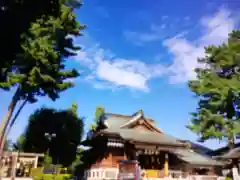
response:
M140 60L117 58L99 45L83 49L76 59L91 69L85 80L91 81L96 88L128 87L147 92L148 81L164 72L160 64L149 65Z

